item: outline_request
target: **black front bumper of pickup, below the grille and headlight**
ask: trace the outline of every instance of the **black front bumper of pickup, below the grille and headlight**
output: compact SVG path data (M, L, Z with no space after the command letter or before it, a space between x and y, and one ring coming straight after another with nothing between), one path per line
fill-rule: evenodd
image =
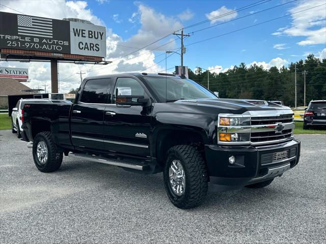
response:
M287 156L276 158L276 153ZM229 164L234 155L235 164ZM282 175L300 159L300 141L268 146L205 145L205 157L211 191L228 191Z

